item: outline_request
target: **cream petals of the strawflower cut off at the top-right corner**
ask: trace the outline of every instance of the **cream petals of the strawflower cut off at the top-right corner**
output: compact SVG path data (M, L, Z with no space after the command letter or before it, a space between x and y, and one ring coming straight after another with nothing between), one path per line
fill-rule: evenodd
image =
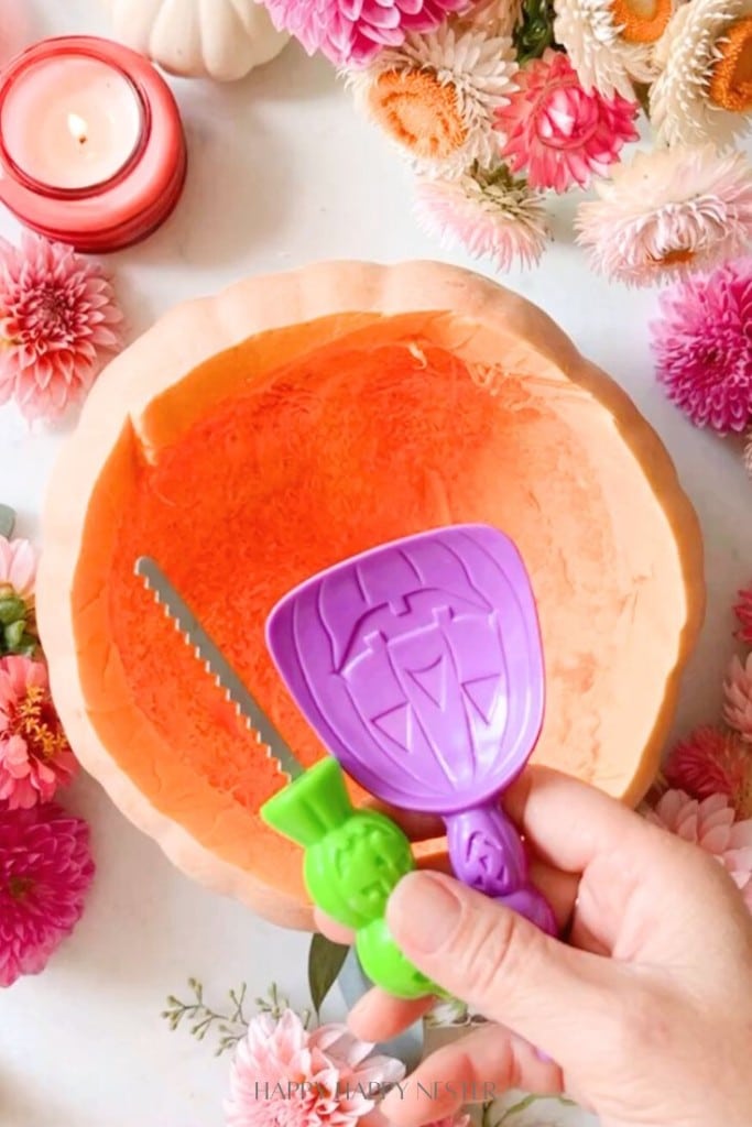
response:
M723 148L749 126L710 99L710 80L723 57L725 33L742 15L743 0L692 0L672 18L657 44L661 74L651 89L651 122L662 144Z

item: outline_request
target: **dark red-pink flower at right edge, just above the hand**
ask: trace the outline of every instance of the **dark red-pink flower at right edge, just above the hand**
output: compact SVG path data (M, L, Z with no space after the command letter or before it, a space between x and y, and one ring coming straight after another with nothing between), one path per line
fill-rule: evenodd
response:
M697 728L673 748L663 774L692 798L725 795L741 817L752 816L752 755L735 731Z

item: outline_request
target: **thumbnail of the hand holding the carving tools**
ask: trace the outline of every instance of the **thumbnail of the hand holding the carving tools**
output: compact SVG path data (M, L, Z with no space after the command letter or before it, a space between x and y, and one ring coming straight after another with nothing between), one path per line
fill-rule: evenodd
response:
M412 872L390 896L387 920L398 943L430 955L450 939L461 911L459 899L441 877Z

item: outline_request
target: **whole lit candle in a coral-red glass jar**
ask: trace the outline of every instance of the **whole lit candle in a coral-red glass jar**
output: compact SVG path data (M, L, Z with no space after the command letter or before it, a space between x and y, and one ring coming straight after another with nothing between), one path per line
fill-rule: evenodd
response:
M0 199L79 250L118 250L176 206L186 148L175 98L116 43L47 39L0 74Z

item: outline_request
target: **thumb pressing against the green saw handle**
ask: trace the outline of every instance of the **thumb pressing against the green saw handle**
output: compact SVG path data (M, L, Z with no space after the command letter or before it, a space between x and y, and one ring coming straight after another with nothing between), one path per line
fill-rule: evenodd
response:
M404 877L387 921L419 970L560 1065L581 1064L573 1059L573 1014L594 1040L618 1009L613 993L621 983L612 962L566 947L451 877Z

